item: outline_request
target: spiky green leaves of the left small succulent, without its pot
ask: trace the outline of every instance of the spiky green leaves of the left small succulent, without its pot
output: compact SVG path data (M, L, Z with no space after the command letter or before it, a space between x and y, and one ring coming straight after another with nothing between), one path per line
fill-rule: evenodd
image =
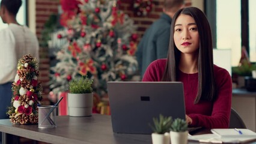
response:
M152 128L154 133L164 134L169 132L169 129L171 128L171 124L172 124L172 118L171 116L165 117L160 114L159 119L153 118L153 122L154 122L154 126L150 124L150 127Z

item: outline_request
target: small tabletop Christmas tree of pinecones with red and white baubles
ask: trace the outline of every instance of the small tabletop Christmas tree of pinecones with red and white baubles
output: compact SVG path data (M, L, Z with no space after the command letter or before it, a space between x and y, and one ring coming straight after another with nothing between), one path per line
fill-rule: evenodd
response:
M19 59L13 82L13 97L7 114L13 124L37 124L37 104L42 100L42 88L38 82L38 62L30 54Z

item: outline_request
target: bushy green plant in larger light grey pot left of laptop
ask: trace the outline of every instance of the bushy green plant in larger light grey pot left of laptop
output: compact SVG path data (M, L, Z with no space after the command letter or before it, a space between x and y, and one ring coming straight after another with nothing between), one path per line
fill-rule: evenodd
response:
M69 82L68 106L70 116L91 116L93 110L93 80L87 76Z

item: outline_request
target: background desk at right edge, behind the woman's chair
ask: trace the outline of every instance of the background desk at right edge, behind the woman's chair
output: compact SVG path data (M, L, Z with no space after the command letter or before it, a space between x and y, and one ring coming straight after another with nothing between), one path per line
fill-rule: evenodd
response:
M236 110L248 129L256 130L256 92L233 89L232 107Z

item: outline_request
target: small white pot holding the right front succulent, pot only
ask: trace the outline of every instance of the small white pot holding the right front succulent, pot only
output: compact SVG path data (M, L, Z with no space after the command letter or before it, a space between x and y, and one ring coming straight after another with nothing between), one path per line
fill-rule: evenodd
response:
M175 132L170 131L171 144L187 144L188 131Z

